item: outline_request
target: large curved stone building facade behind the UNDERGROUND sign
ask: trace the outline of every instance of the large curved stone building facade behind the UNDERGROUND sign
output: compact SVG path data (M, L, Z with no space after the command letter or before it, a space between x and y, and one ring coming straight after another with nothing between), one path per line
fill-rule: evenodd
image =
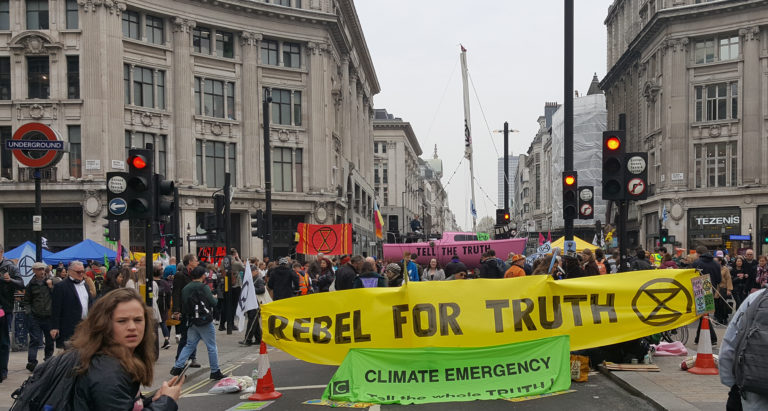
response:
M372 238L379 83L352 0L0 0L0 137L37 121L69 142L44 173L53 248L103 241L106 172L153 143L156 171L180 188L182 234L230 173L233 244L260 256L249 214L265 206L267 91L275 254L299 222ZM32 237L34 190L30 170L2 160L0 242L13 246ZM123 242L142 249L130 226Z

